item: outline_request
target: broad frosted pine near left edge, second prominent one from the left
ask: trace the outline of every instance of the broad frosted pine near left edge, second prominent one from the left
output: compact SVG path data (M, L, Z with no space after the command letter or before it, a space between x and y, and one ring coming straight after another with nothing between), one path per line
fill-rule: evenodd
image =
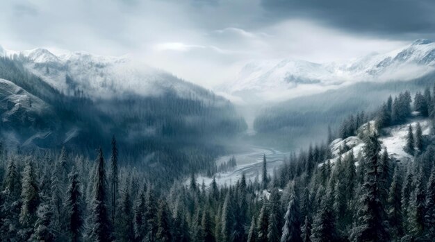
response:
M26 162L22 178L22 208L19 221L23 225L33 225L36 218L36 210L40 204L38 181L33 168L33 162Z

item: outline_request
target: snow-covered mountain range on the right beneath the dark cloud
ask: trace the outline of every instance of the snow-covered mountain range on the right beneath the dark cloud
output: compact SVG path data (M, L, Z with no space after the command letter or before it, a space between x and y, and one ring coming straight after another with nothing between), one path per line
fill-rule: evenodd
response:
M291 58L252 61L233 81L216 90L233 96L255 95L262 101L283 101L358 81L409 80L434 69L435 42L416 40L402 49L345 62L313 63Z

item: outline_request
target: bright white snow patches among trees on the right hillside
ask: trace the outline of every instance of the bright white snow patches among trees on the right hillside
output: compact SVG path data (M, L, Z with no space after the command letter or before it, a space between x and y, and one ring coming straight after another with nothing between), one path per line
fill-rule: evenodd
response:
M417 123L420 123L420 126L422 128L422 135L427 136L430 132L430 121L429 119L425 119L422 117L414 116L412 119L409 120L409 122L397 125L397 126L391 126L388 128L382 129L381 137L379 137L379 140L382 142L382 151L386 148L389 157L402 162L411 161L413 159L412 155L409 155L404 151L404 146L407 143L407 134L408 134L408 127L409 125L412 126L413 132L416 132ZM370 121L370 125L374 125L374 121ZM365 127L364 125L363 127ZM361 154L361 150L364 146L364 142L359 139L359 137L351 136L347 137L346 139L336 139L331 142L331 153L334 155L334 158L330 159L331 164L334 164L336 160L338 159L338 153L340 150L340 147L349 147L351 148L347 152L343 153L341 157L345 157L346 155L349 155L351 150L354 153L355 157L359 157ZM327 161L325 161L327 162ZM319 166L322 166L325 163L319 164ZM358 162L355 163L358 165Z

